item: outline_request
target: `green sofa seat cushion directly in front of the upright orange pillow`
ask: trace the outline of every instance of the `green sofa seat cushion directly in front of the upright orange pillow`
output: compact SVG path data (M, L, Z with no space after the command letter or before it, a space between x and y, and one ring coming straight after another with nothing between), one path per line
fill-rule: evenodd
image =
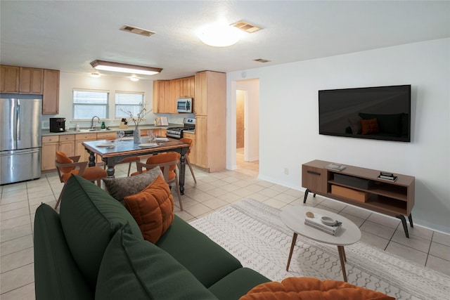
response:
M156 243L187 268L205 287L242 265L224 248L175 216L172 226Z

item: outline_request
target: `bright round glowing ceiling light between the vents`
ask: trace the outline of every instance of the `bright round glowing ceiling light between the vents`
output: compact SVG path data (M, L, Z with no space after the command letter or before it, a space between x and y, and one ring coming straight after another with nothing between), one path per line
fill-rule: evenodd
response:
M219 21L200 28L197 36L203 43L214 47L227 47L236 44L242 37L238 28Z

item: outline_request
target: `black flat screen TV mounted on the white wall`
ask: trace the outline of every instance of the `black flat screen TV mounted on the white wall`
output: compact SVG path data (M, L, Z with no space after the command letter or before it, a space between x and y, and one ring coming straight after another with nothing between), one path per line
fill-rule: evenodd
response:
M319 134L411 141L411 85L319 91Z

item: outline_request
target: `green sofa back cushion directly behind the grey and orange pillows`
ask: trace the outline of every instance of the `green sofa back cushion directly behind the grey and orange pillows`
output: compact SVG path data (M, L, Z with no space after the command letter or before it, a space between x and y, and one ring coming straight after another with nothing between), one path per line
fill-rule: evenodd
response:
M65 240L79 270L94 290L101 259L111 237L127 222L143 239L138 224L125 207L86 179L72 175L60 204Z

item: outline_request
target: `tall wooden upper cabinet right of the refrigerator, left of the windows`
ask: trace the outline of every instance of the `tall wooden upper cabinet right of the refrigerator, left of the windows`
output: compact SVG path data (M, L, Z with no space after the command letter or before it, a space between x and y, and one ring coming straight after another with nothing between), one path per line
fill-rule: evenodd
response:
M44 70L44 89L42 91L42 115L59 113L59 71Z

